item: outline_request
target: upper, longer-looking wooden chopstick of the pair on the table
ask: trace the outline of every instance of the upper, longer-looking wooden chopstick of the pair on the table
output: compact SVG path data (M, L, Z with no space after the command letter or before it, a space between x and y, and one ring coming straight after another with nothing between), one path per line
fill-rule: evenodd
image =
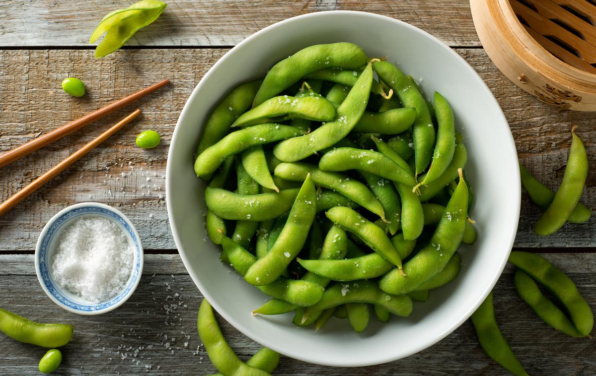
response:
M61 139L62 137L66 136L67 134L80 129L87 124L91 123L92 121L98 120L104 117L110 112L116 111L119 108L122 108L125 105L128 105L131 102L136 101L139 98L144 97L148 93L152 93L157 89L160 89L163 86L166 86L170 83L170 80L166 79L156 84L153 84L149 87L145 87L145 89L139 90L138 92L131 94L125 98L119 99L111 104L96 109L93 112L89 112L82 118L79 118L75 121L71 121L68 124L64 124L64 126L58 127L48 133L42 134L41 136L30 140L29 142L24 143L23 145L17 146L16 148L5 152L4 154L0 155L0 167L4 167L5 165L9 164L10 162L14 162L23 156L36 151L42 146L48 145L48 143L52 143L55 140Z

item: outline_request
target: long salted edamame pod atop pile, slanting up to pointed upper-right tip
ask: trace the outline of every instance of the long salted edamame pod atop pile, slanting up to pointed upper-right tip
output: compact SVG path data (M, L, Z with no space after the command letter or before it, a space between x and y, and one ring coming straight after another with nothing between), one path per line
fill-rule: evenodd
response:
M293 137L275 145L273 153L285 162L295 162L335 145L346 137L358 123L368 104L373 70L371 64L363 71L358 82L337 108L336 120L318 127L304 136Z

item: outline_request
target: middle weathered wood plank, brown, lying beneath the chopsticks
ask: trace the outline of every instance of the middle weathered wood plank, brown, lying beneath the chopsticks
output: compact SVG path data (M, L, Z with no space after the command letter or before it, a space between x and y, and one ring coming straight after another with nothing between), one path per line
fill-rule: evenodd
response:
M67 205L87 200L108 203L129 215L145 248L174 249L164 202L169 140L191 90L226 51L129 49L100 61L94 60L92 51L0 52L0 71L4 73L0 75L0 152L164 77L173 79L169 87L136 104L144 111L139 120L0 217L0 250L33 249L39 231L52 215ZM579 125L578 133L594 168L596 113L548 107L505 79L482 49L457 51L480 73L498 98L510 122L522 162L540 180L555 189L563 176L570 124ZM62 92L60 81L69 74L86 83L88 95L77 99ZM1 198L17 192L132 109L134 106L129 106L0 169ZM143 129L154 129L162 134L158 148L145 151L135 146L135 136ZM596 208L594 174L588 177L582 201ZM524 196L516 246L596 246L595 216L588 223L566 225L553 236L543 238L532 233L538 215L538 209Z

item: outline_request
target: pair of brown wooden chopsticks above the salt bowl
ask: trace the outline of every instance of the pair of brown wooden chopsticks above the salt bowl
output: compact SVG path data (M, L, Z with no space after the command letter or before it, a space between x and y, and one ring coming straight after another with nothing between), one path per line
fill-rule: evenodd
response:
M16 148L0 155L0 167L14 162L17 159L22 158L23 156L26 156L27 154L32 153L37 149L54 142L55 140L61 139L67 134L72 133L77 129L80 129L86 126L87 124L92 123L95 120L103 118L105 115L110 114L111 112L114 112L117 109L120 109L123 106L128 105L131 102L134 102L137 99L142 98L145 95L152 93L163 86L166 86L168 83L170 83L170 80L166 79L149 87L145 87L145 89L139 90L134 94L119 99L118 101L112 102L111 104L103 108L96 109L93 112L89 112L89 114L86 114L82 118L79 118L75 121L71 121L70 123L65 124L64 126L49 131L48 133L45 133L42 136L39 136L27 143L24 143L23 145L17 146ZM17 205L17 203L29 197L33 192L44 186L44 184L47 183L49 180L60 174L62 171L66 170L66 168L68 168L70 165L82 158L86 153L92 151L95 147L100 145L100 143L104 142L106 139L108 139L108 137L119 131L122 127L130 123L132 120L134 120L134 118L138 117L138 115L140 114L141 110L136 109L134 112L132 112L132 114L120 120L117 124L112 126L104 133L100 134L100 136L96 137L87 145L83 146L76 152L69 155L66 159L64 159L64 161L58 163L57 165L49 169L45 174L36 178L26 187L15 193L9 199L0 203L0 215L3 215L5 212L9 211L15 205Z

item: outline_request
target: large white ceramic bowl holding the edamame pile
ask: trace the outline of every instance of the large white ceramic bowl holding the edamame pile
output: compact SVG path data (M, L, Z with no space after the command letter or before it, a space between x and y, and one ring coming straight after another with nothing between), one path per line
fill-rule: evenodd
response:
M318 333L297 328L291 314L253 317L267 297L219 261L204 228L205 184L193 171L193 152L210 111L234 86L263 77L275 62L317 43L353 42L370 57L389 57L427 95L441 92L467 139L467 176L474 188L471 215L478 240L462 246L457 280L415 303L411 317L381 324L371 318L356 334L331 320ZM329 11L290 18L248 37L224 55L194 89L173 133L167 160L167 209L178 251L198 288L234 327L253 340L302 361L364 366L426 349L460 326L492 290L513 245L520 209L517 153L507 121L476 72L435 37L393 18Z

